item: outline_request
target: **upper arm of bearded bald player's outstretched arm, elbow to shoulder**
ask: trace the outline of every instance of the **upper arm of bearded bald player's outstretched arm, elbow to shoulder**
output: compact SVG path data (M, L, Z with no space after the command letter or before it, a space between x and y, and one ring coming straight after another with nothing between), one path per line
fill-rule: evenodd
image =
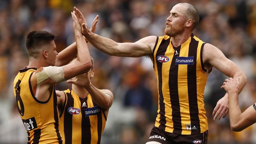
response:
M124 57L141 57L151 55L155 43L156 36L148 36L134 43L117 43L117 54L113 52L113 55Z

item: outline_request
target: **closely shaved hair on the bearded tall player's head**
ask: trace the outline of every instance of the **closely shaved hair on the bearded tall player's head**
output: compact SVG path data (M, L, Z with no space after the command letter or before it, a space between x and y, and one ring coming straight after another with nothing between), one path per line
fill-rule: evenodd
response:
M193 20L193 29L195 29L195 27L199 22L199 13L197 8L189 3L180 3L180 4L183 4L187 7L186 9L187 18L191 18Z

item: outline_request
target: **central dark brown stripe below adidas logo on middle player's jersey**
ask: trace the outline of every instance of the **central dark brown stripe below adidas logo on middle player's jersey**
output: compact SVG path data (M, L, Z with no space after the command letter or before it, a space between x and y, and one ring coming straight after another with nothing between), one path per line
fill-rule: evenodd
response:
M91 144L91 123L89 116L85 117L85 109L82 109L82 103L85 102L87 107L87 98L79 98L81 101L81 111L82 111L82 144Z

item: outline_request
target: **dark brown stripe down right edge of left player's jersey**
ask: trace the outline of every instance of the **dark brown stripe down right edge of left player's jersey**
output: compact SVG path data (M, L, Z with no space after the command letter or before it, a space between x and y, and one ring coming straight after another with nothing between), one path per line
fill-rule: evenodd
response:
M53 86L52 88L53 90L53 109L54 109L54 128L56 130L56 134L57 134L57 137L58 137L58 142L59 144L62 144L62 139L61 139L61 136L60 136L60 133L59 133L59 115L58 115L58 105L57 105L57 95L56 95L56 92L55 92L55 88Z

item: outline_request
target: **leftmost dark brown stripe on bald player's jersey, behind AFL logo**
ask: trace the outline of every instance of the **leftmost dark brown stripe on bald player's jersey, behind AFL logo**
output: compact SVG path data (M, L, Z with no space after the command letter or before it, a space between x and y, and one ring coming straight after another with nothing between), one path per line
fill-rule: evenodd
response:
M168 45L170 44L170 39L163 39L161 41L161 44L158 48L158 51L156 52L156 66L157 66L157 69L158 69L158 93L159 93L159 107L160 107L160 111L159 111L159 114L160 114L160 126L159 128L162 129L163 131L165 131L165 124L166 124L166 117L165 117L165 103L163 102L163 92L162 92L162 66L163 66L163 63L157 61L157 57L159 55L165 55L165 52L167 50L167 47Z

